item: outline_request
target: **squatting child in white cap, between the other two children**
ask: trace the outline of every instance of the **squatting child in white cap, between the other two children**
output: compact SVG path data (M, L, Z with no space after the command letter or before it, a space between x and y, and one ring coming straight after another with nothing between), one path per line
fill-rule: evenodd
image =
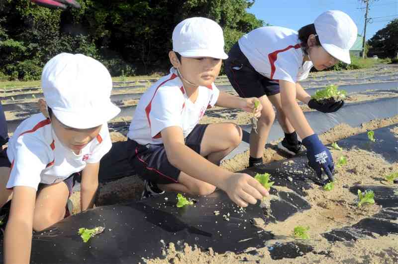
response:
M169 58L170 74L141 97L127 134L130 163L145 182L142 198L163 191L208 195L218 187L240 206L255 204L268 194L263 186L218 166L241 142L242 130L232 123L198 124L213 106L255 110L257 99L231 96L214 85L227 58L221 27L202 17L180 22Z

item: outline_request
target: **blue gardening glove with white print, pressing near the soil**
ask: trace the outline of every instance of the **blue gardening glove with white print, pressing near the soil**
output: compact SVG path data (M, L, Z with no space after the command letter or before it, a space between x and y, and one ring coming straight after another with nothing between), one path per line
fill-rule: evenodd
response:
M302 144L307 148L308 163L316 172L319 178L322 178L322 170L330 181L333 181L334 164L330 151L322 144L317 134L302 139Z

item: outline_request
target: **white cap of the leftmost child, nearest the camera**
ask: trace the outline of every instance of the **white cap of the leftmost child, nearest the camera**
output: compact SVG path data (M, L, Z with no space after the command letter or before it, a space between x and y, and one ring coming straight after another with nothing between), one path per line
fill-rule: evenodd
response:
M83 54L61 53L49 60L41 74L41 87L54 115L71 128L94 128L120 112L110 102L108 70Z

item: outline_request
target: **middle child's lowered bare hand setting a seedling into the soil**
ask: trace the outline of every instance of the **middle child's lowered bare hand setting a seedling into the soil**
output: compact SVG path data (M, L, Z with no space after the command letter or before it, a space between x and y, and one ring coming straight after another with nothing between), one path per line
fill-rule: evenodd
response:
M257 200L268 196L268 191L252 176L246 173L233 173L225 180L222 188L238 206L256 204Z

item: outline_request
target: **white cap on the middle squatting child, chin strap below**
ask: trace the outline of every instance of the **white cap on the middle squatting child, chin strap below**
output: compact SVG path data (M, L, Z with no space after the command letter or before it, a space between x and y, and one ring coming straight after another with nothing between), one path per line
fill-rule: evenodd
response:
M204 17L187 18L174 28L173 51L183 57L228 58L222 28Z

